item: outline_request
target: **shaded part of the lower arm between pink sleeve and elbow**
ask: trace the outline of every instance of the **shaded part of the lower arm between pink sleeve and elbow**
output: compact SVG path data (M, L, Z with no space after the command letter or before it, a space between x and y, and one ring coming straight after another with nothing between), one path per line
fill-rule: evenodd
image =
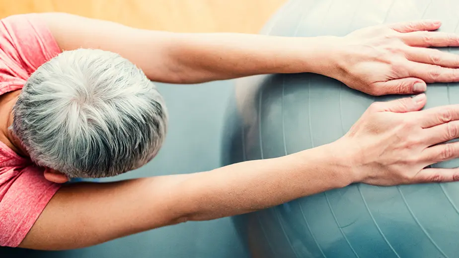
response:
M181 218L170 191L188 175L62 187L19 247L67 250L97 245Z

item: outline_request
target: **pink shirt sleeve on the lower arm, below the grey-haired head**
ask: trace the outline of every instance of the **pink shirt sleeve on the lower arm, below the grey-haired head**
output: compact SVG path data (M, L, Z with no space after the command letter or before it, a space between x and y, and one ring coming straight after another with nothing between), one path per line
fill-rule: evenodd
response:
M17 247L60 185L46 180L43 170L33 166L12 168L9 173L10 180L0 186L4 192L0 200L0 246Z

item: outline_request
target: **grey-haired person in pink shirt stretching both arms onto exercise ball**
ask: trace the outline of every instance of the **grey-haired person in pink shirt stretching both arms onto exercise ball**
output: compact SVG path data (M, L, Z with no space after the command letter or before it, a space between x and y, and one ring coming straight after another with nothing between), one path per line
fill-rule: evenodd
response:
M426 82L459 81L459 46L438 21L374 26L345 37L283 38L141 30L64 13L0 24L0 245L86 247L137 232L277 205L352 183L459 179L428 165L457 158L459 106L423 110ZM151 81L199 83L314 72L375 103L339 140L288 156L194 174L106 184L151 160L167 111ZM266 191L269 190L269 191ZM141 196L141 197L140 197Z

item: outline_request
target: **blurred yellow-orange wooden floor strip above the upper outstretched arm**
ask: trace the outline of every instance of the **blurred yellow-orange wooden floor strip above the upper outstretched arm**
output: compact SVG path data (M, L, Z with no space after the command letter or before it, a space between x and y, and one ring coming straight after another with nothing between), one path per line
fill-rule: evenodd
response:
M285 0L0 0L0 18L27 12L70 12L126 25L176 32L257 33Z

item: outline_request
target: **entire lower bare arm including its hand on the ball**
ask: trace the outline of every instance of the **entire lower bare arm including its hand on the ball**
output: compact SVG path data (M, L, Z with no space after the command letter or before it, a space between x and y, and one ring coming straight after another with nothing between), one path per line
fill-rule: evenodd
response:
M459 180L425 169L459 156L459 106L421 110L424 94L375 103L339 140L284 157L213 171L79 183L49 202L20 247L63 250L185 222L275 206L352 183L390 186Z

